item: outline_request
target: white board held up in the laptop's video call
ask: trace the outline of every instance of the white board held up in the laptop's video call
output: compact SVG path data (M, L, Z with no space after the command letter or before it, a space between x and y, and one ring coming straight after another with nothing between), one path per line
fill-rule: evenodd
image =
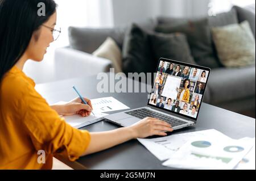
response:
M161 95L167 98L177 99L177 94L178 94L177 88L180 87L180 82L181 82L180 77L168 75Z

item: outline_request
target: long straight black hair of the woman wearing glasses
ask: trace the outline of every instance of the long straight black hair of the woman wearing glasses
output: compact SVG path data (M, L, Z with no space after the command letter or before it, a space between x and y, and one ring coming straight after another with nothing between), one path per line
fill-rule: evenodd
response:
M39 16L39 3L45 5L45 16ZM53 0L0 0L0 82L22 57L34 31L56 11Z

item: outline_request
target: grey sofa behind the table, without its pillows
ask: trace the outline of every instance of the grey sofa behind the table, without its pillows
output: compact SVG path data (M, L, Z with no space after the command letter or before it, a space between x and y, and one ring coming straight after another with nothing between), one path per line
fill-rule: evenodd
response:
M231 23L240 23L243 20L249 20L251 30L255 37L255 13L251 16L240 7L233 8L232 11L217 15L217 18L209 17L210 26L225 26ZM180 23L184 19L175 19L168 17L158 17L155 19L145 20L138 23L144 30L154 31L157 24L160 23ZM92 56L96 50L110 36L119 48L122 49L123 40L126 35L127 27L116 27L108 29L90 29L90 28L69 28L70 47L60 48L55 53L56 68L62 71L63 65L84 65L87 69L86 73L79 66L76 66L77 77L96 74L101 71L109 70L111 61L104 58ZM77 61L79 64L77 64ZM94 64L93 69L90 68ZM73 68L72 68L73 69ZM74 69L73 69L74 70ZM68 66L67 71L71 71ZM68 73L72 74L73 73ZM71 75L70 75L71 76ZM74 75L73 75L74 76ZM225 68L219 66L212 69L210 74L208 87L205 91L204 102L217 107L225 108L230 111L242 113L251 117L255 117L255 65L245 68Z

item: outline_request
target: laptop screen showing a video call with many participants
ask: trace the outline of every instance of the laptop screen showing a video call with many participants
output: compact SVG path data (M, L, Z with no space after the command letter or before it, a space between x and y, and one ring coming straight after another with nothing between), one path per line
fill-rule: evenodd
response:
M148 105L197 119L210 69L160 58Z

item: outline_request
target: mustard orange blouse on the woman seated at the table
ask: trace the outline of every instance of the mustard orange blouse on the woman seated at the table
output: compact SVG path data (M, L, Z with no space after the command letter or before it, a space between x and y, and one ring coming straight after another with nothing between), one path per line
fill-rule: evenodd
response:
M53 155L75 161L89 145L89 132L65 123L34 87L16 66L0 83L0 169L51 169Z

